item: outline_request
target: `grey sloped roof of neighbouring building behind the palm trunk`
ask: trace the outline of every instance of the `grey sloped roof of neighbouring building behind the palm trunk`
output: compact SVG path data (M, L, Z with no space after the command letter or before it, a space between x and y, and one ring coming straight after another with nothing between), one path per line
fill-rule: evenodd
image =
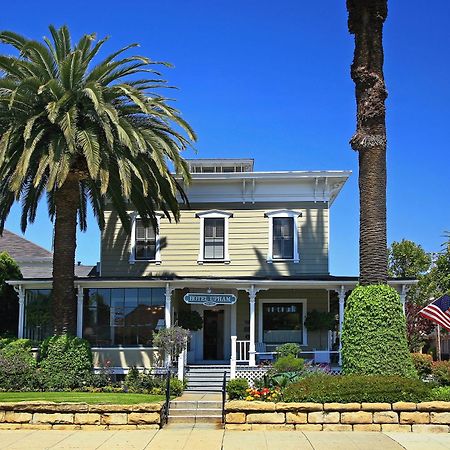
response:
M53 253L49 250L9 230L3 230L3 235L0 236L0 252L8 252L18 263L51 261L53 257Z

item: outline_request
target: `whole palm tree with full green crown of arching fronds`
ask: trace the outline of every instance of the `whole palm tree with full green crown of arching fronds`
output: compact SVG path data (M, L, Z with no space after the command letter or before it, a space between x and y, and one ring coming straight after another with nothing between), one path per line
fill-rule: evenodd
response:
M0 55L0 231L15 201L21 226L34 221L46 193L54 219L55 333L75 329L74 260L77 221L85 230L90 203L100 228L110 202L127 230L127 211L156 226L155 212L179 217L186 197L170 173L189 173L180 151L195 140L190 126L155 89L167 87L157 66L122 54L97 62L107 38L85 35L72 45L66 26L50 26L44 43L12 32L0 42L18 50Z

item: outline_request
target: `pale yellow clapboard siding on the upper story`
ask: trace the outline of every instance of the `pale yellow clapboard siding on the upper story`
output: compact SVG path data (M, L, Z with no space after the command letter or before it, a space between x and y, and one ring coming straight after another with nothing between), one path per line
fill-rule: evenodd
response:
M267 206L267 207L266 207ZM324 203L296 204L290 209L301 212L297 219L300 263L266 262L269 241L269 219L266 212L286 206L227 205L220 210L233 213L229 219L229 264L198 264L200 219L196 214L208 209L194 207L181 211L179 223L162 218L160 265L144 261L129 263L130 236L124 231L117 214L105 213L106 227L102 233L101 267L103 276L147 276L176 274L178 276L255 276L300 275L328 273L328 208Z

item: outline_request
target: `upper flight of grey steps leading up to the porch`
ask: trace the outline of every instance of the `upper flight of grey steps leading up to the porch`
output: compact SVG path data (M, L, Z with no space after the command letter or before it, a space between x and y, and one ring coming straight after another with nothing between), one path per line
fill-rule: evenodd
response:
M189 392L221 392L223 374L230 378L230 366L201 365L188 366L186 371L187 391Z

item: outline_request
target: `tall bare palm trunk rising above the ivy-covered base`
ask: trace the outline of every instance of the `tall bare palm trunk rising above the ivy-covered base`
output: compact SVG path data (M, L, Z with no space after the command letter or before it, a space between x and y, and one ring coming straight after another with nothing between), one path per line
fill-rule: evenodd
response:
M360 283L387 282L386 86L383 23L387 0L347 0L348 28L355 35L351 76L357 126L350 140L359 153Z

